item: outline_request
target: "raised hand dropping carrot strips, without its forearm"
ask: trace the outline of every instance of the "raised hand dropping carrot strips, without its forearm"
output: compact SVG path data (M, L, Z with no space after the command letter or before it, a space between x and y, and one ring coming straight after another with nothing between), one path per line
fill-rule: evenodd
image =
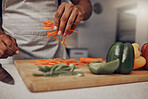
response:
M71 34L69 31L74 30L83 19L84 10L79 5L63 2L55 14L54 30L58 31L58 35L66 36Z

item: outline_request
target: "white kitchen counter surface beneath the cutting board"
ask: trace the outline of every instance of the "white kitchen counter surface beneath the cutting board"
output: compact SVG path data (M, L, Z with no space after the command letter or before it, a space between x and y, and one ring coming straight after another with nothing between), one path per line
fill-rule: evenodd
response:
M15 85L0 82L0 99L147 99L148 82L32 93L12 63L0 61Z

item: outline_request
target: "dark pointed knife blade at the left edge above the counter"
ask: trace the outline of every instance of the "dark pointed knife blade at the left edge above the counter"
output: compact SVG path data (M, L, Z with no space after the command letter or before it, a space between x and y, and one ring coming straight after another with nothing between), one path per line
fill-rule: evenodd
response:
M14 85L13 77L2 67L2 64L0 64L0 81Z

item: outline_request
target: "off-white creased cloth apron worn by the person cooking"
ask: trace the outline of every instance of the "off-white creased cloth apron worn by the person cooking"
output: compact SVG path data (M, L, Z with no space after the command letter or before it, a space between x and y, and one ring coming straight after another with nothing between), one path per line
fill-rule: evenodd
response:
M42 22L54 20L57 5L58 0L3 0L2 27L20 50L13 59L67 58L65 47L42 30Z

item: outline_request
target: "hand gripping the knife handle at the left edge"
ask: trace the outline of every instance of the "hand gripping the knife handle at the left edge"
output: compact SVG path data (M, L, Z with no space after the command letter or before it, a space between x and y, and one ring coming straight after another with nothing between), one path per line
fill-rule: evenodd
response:
M19 54L15 38L1 32L0 33L0 59L8 58L15 54Z

